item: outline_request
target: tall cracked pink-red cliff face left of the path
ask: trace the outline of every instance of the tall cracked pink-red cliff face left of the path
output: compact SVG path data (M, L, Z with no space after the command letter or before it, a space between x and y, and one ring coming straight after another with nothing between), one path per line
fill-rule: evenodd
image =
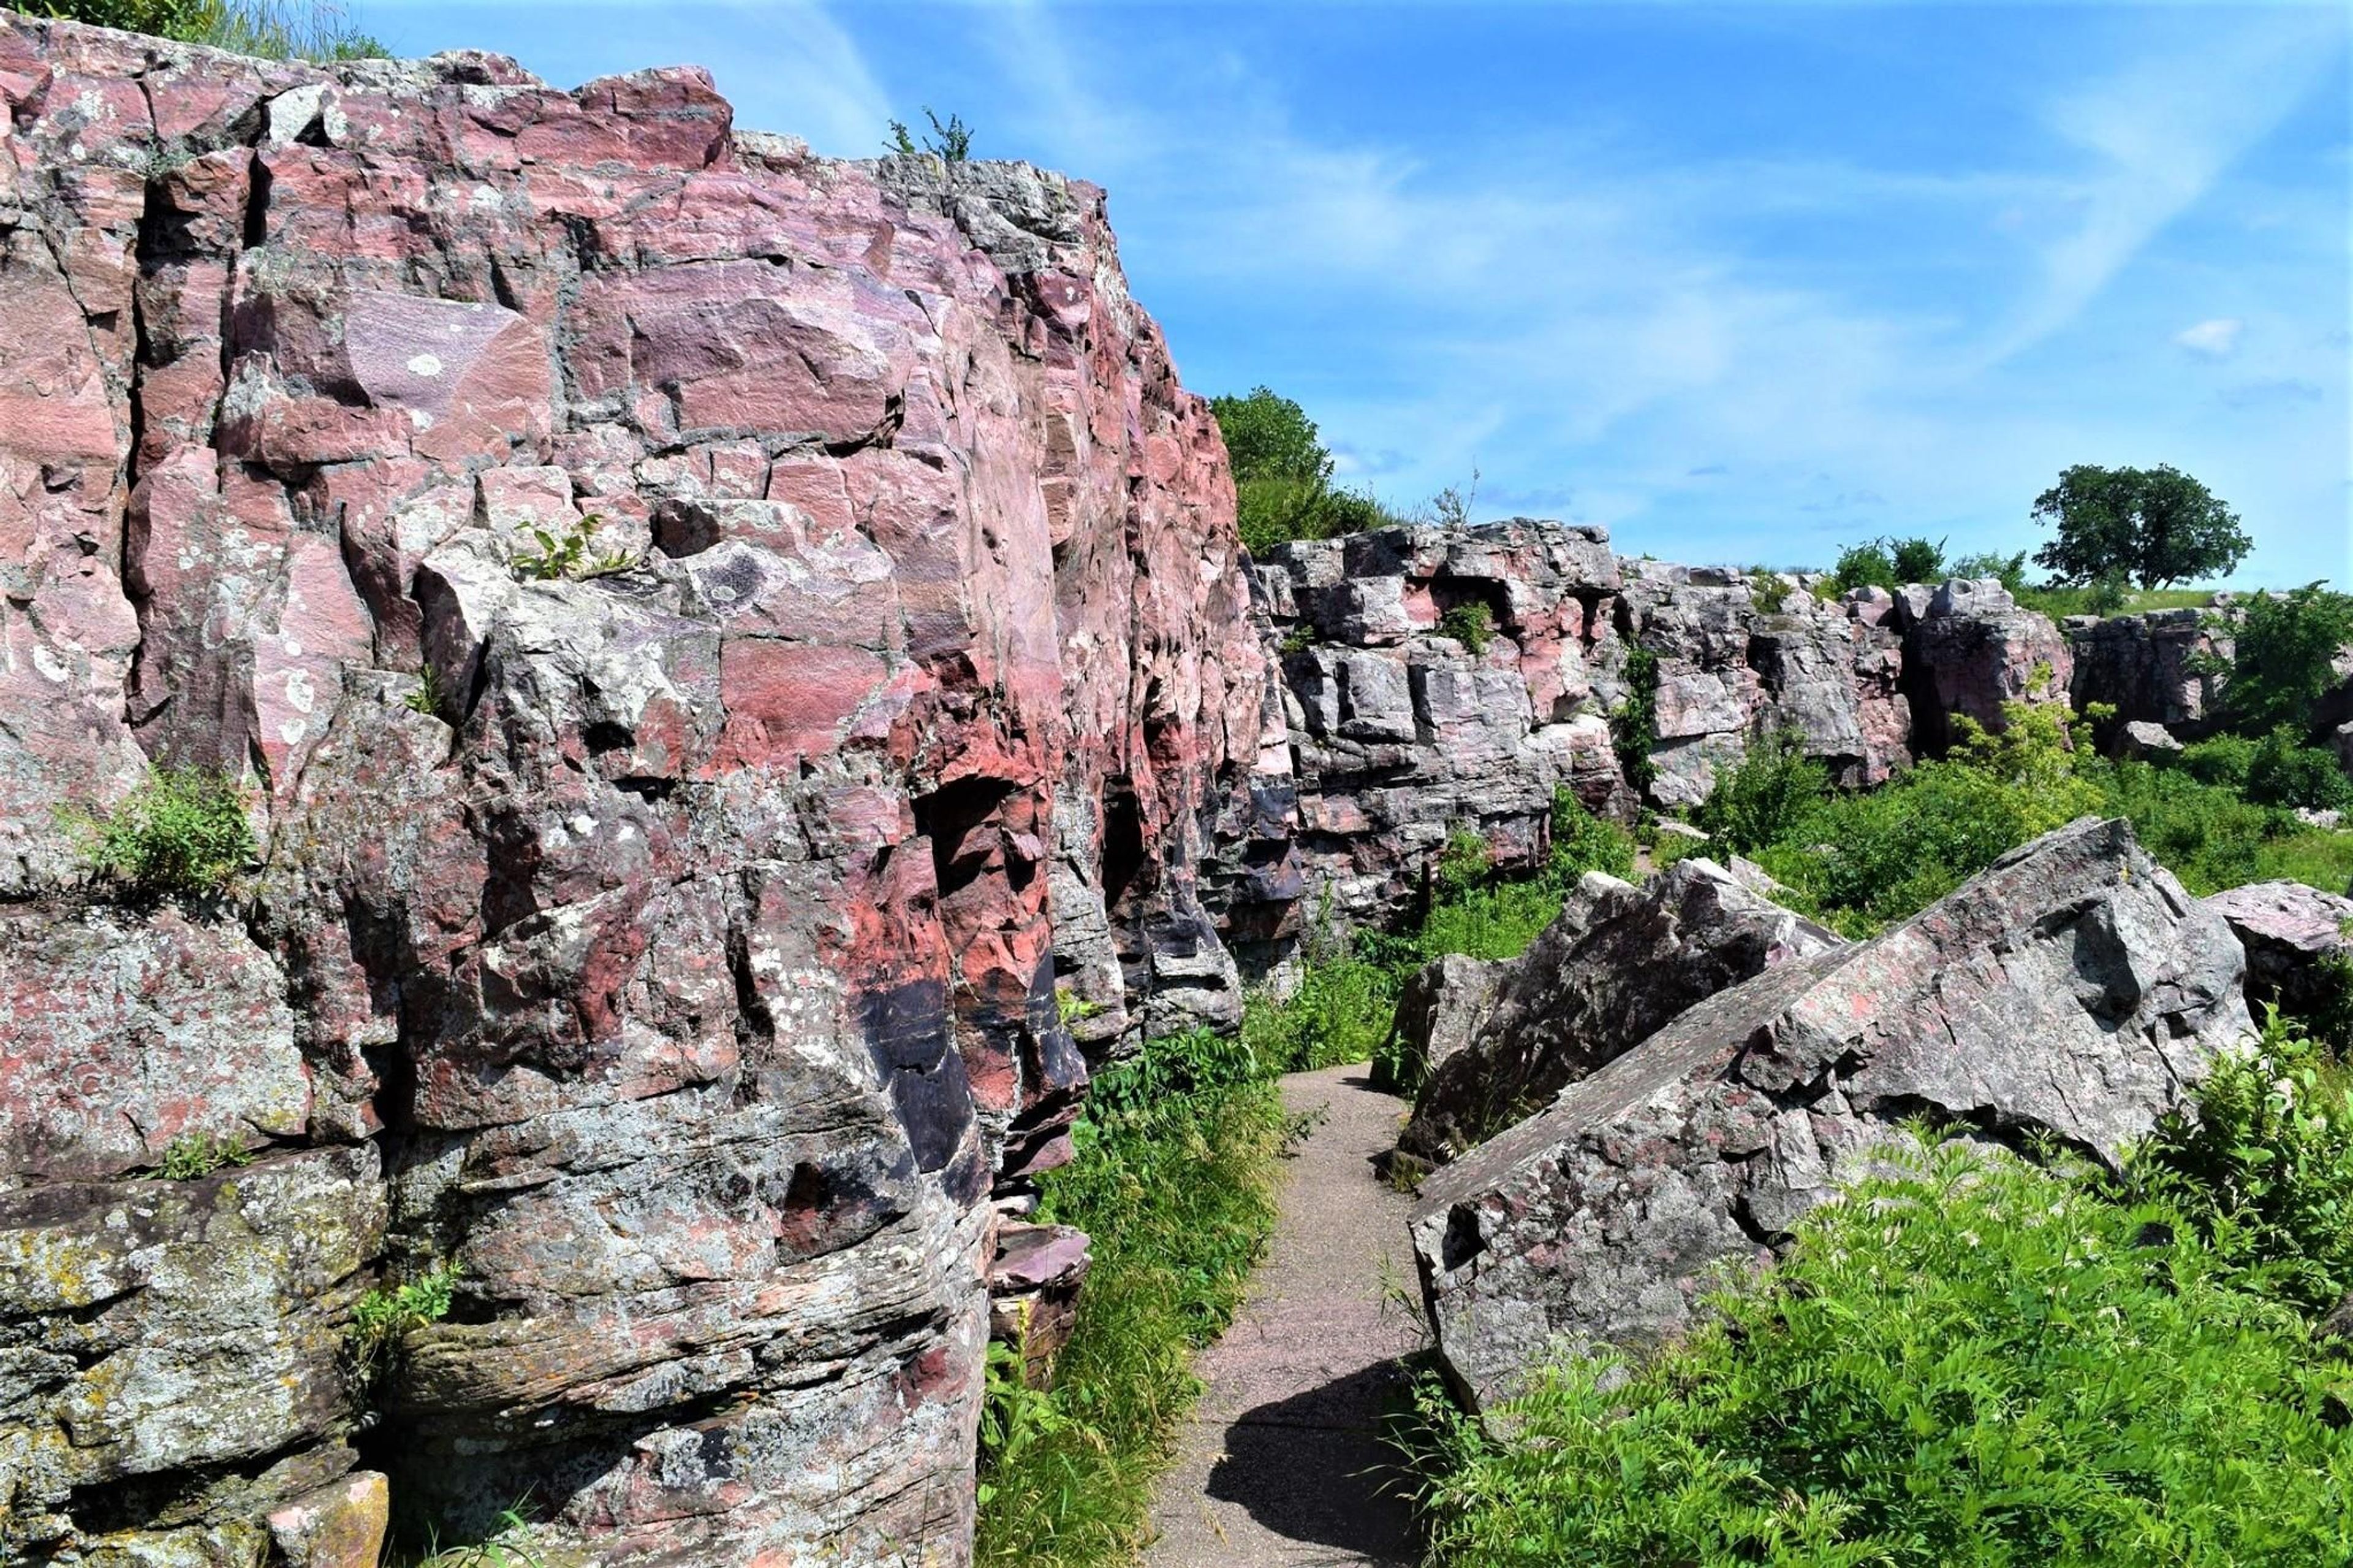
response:
M358 1448L445 1537L965 1561L991 1189L1301 892L1104 195L692 68L0 14L0 1556L315 1556ZM219 916L68 897L151 758L247 784Z

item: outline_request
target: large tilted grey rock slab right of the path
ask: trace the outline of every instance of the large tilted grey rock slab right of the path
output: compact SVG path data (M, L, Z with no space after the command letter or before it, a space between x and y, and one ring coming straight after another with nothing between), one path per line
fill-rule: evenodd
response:
M1897 1123L2113 1158L2247 1029L2245 956L2125 822L2082 819L1854 946L1699 1003L1421 1189L1447 1375L1685 1330Z

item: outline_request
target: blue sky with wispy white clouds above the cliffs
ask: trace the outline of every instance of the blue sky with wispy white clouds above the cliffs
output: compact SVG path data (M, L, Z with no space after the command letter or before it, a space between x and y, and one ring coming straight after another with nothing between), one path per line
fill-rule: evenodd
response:
M2075 461L2353 582L2341 5L424 5L395 52L711 66L868 155L925 104L1111 191L1198 391L1299 398L1414 504L1628 553L2021 549Z

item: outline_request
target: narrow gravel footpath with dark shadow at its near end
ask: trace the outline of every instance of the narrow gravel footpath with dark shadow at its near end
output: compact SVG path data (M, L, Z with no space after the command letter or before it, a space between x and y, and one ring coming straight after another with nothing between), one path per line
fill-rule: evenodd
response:
M1412 1201L1372 1158L1405 1104L1365 1067L1282 1081L1292 1111L1325 1109L1285 1175L1282 1212L1249 1300L1195 1370L1207 1391L1160 1479L1146 1568L1412 1568L1417 1552L1381 1415L1402 1398L1417 1326L1384 1307L1412 1278Z

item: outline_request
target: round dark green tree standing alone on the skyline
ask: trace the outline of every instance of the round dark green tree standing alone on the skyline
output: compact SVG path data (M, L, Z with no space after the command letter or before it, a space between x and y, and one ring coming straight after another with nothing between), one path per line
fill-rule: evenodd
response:
M2064 584L2129 577L2144 589L2224 577L2254 546L2221 497L2169 464L2075 464L2035 497L2035 520L2059 537L2035 563Z

